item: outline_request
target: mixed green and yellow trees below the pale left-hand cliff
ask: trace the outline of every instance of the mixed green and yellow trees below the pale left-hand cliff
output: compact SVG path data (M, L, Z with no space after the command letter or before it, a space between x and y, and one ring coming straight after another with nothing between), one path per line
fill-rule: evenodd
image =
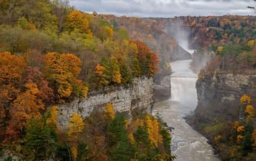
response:
M27 121L26 135L5 148L22 160L173 160L170 131L152 115L127 120L108 103L90 117L73 113L67 133L59 131L58 107ZM9 133L13 134L13 133ZM11 158L9 158L11 159Z

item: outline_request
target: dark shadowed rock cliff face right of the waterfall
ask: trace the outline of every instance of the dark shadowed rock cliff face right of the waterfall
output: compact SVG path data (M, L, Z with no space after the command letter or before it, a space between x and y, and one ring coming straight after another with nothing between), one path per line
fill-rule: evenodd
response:
M197 80L198 105L195 120L208 123L216 118L237 119L240 98L256 96L255 74L216 74Z

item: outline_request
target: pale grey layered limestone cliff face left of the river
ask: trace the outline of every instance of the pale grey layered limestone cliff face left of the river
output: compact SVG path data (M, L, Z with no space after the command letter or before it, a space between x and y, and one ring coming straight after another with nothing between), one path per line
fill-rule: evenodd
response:
M79 113L83 118L93 111L102 111L106 103L113 103L118 113L151 112L153 107L154 81L153 78L135 78L129 87L108 87L104 92L88 93L86 99L75 99L71 103L59 105L58 124L63 130L67 129L73 113Z

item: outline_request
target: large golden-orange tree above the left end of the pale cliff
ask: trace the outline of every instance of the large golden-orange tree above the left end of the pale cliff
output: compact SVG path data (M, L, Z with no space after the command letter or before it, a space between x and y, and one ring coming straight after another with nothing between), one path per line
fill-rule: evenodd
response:
M71 93L86 97L88 87L78 78L82 66L77 56L49 52L45 56L45 68L57 102L64 103Z

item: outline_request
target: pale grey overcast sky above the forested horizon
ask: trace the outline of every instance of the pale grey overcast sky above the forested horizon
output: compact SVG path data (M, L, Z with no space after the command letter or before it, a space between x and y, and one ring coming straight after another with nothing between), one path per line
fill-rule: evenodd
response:
M81 11L137 17L179 15L253 15L253 0L70 0Z

